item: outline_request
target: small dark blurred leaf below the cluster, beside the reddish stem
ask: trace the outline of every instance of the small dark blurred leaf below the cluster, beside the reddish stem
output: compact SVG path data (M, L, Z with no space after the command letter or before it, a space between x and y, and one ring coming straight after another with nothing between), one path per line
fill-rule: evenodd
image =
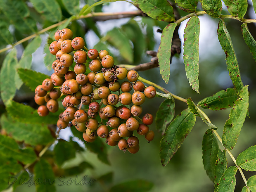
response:
M53 151L55 162L58 166L62 166L65 161L76 157L76 151L73 149L73 145L65 140L59 140Z

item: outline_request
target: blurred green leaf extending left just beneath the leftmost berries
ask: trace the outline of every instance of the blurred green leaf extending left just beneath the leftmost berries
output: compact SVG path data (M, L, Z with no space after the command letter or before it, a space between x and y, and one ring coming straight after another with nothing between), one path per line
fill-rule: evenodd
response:
M31 124L56 124L59 119L59 114L64 111L63 109L59 109L56 113L51 113L48 116L39 116L37 109L14 101L8 104L6 110L12 118L22 123Z

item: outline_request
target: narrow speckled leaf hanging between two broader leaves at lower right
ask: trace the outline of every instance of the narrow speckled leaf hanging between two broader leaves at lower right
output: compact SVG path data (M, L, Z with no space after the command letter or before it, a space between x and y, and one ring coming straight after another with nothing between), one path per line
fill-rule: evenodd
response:
M214 180L214 192L217 191L217 187L219 185L220 178L224 174L224 172L227 169L227 159L226 159L226 151L223 150L223 152L219 149L218 154L217 154L217 159L216 159L216 164L215 164L215 180Z

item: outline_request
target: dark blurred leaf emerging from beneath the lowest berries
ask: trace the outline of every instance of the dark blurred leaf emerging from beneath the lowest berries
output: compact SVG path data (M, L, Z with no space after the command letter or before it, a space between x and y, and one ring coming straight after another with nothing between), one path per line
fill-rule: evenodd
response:
M107 158L106 144L102 142L101 139L97 138L93 143L85 143L85 147L91 152L97 154L97 157L100 161L110 165L109 159Z

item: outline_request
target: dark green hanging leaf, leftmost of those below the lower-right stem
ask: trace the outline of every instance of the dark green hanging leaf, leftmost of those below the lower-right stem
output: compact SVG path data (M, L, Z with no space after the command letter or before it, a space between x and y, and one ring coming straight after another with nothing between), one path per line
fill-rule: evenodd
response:
M209 178L214 182L215 179L215 164L219 150L218 141L211 129L208 129L203 137L202 151L204 170Z

